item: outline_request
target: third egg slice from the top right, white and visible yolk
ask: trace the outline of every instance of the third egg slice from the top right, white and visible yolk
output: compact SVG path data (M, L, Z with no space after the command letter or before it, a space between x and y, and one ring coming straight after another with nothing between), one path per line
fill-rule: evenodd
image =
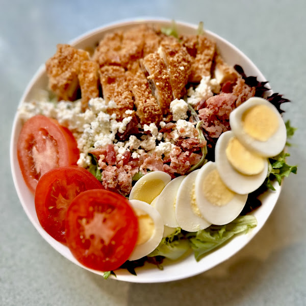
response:
M196 176L195 196L201 215L216 225L233 221L247 199L247 194L237 194L226 187L213 162L202 166Z

